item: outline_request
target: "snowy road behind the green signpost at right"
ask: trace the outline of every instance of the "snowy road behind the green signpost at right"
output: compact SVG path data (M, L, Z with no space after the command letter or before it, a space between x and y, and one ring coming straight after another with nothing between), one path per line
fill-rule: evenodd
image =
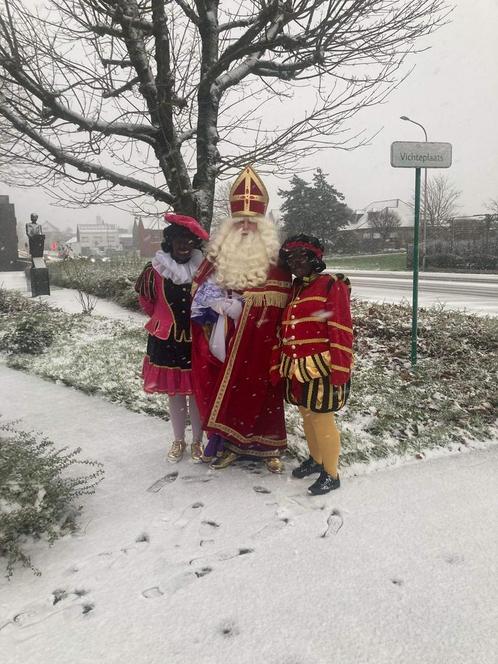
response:
M338 270L339 271L339 270ZM376 302L410 302L410 272L347 270L352 293ZM481 315L498 316L498 275L425 272L419 275L419 305L444 304Z

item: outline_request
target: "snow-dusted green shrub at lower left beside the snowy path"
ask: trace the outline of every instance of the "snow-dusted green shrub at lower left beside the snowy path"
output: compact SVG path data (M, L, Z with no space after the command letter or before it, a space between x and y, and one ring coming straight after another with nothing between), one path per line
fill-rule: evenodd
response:
M18 562L40 574L24 550L29 538L52 543L76 529L82 507L75 500L94 493L104 472L99 462L78 459L79 452L58 450L47 438L9 425L0 427L0 556L7 559L7 576ZM91 472L66 476L76 464Z

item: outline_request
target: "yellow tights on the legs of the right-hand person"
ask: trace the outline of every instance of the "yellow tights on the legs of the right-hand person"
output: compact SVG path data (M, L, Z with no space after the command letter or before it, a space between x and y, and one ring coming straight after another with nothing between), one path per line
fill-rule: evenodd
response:
M341 451L341 434L335 423L334 413L314 413L299 406L310 455L332 477L337 477L337 465Z

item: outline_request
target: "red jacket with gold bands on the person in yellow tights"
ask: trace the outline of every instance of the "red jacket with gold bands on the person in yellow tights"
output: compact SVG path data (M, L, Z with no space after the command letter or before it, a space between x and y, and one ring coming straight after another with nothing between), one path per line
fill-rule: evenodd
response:
M284 310L278 357L292 359L330 354L330 382L351 377L353 329L349 280L342 274L319 274L308 283L295 279Z

